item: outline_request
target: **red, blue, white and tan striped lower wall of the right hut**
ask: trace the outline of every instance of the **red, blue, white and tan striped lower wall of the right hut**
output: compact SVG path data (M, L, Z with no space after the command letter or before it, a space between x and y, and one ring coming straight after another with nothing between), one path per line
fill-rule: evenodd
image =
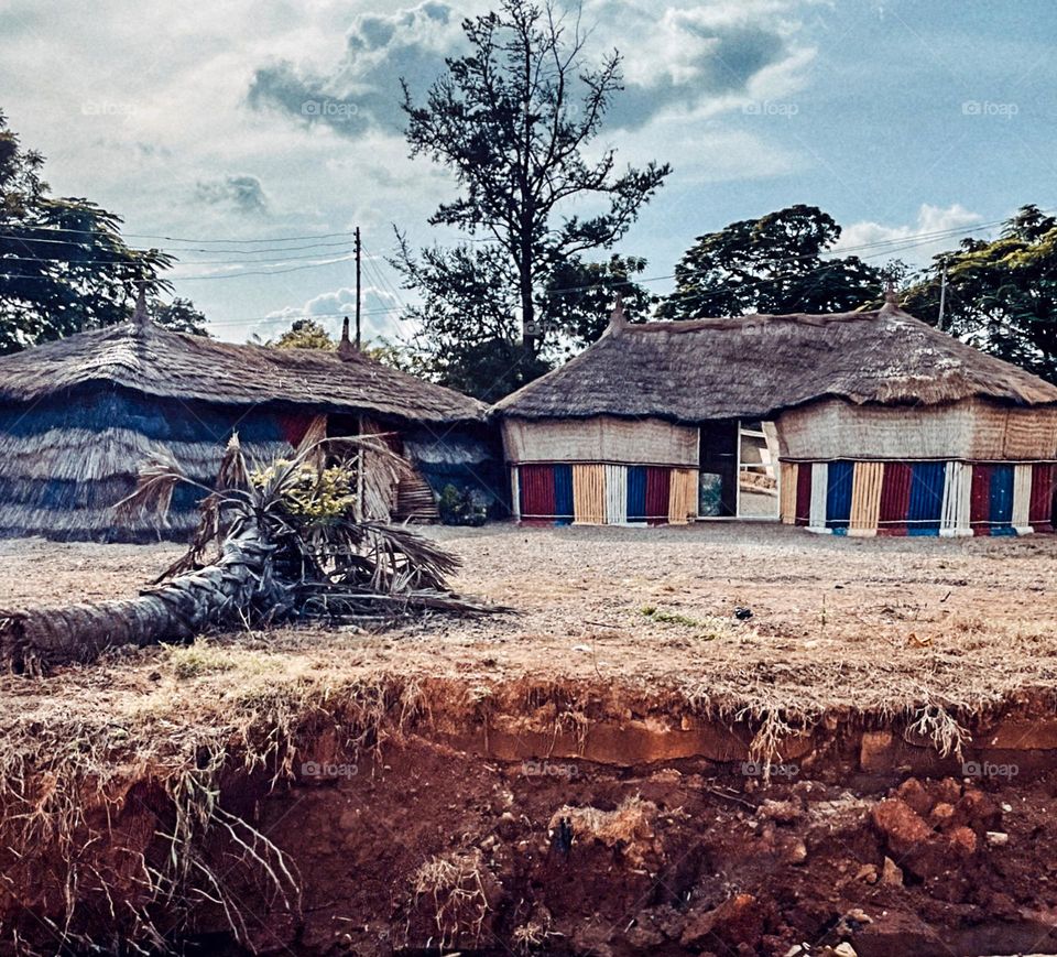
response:
M1057 464L783 463L780 519L848 535L1025 535L1054 531ZM686 524L697 469L602 464L511 470L515 515L556 524Z

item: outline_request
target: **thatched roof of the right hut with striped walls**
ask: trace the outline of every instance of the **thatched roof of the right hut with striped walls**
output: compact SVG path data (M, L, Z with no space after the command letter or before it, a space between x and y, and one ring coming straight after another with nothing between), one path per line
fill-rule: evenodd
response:
M1057 404L1057 387L904 313L872 312L628 324L495 405L526 418L656 415L678 422L766 418L836 396L934 405L985 396Z

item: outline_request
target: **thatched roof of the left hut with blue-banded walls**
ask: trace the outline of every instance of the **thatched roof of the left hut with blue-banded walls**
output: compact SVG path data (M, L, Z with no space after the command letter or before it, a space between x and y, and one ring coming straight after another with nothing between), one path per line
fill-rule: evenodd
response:
M486 411L476 399L383 366L355 348L239 346L145 322L0 357L0 402L32 402L91 382L183 401L274 402L411 422L479 421Z

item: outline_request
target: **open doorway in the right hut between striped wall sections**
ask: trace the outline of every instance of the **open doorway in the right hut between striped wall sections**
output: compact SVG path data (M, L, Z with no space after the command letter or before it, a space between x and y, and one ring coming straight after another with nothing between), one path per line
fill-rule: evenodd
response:
M699 518L777 521L780 476L773 422L701 423L698 460Z

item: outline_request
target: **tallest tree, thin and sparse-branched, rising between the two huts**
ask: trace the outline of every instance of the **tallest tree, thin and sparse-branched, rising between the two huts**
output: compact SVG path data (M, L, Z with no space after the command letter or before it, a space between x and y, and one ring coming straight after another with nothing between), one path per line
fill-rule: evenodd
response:
M483 233L491 248L455 251L450 259L433 253L425 269L450 273L453 286L486 269L497 270L504 282L512 280L513 303L506 285L482 293L493 316L516 307L508 324L520 313L527 356L519 374L525 377L536 368L549 326L545 306L541 315L541 289L556 269L624 236L669 166L650 163L618 173L612 149L588 159L612 98L622 89L621 57L613 52L598 67L587 64L578 22L569 32L549 4L502 0L499 12L467 19L462 30L470 53L447 61L446 74L423 105L403 84L406 137L412 156L448 167L460 189L429 222ZM581 218L571 213L574 204L593 204L595 211ZM471 264L468 274L458 274ZM404 265L405 279L413 278L406 249ZM433 293L435 302L437 295ZM426 323L435 318L432 311L419 315ZM482 330L478 341L495 339L495 331ZM499 337L509 344L512 330L504 327ZM510 347L497 342L493 348L499 354Z

